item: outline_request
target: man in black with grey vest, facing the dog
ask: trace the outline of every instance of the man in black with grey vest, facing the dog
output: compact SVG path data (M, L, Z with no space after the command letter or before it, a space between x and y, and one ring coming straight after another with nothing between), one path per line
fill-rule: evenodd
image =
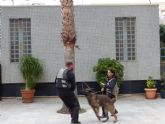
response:
M71 124L81 124L81 122L78 121L80 105L74 94L76 83L72 62L66 63L66 69L59 70L55 82L59 97L71 113Z

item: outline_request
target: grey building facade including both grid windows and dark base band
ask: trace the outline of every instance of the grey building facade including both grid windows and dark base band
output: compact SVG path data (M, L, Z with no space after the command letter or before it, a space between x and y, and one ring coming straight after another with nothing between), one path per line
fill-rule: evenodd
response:
M55 95L55 75L64 66L60 6L4 6L1 19L2 95L19 95L24 54L44 65L38 95ZM75 25L77 82L96 84L93 66L103 57L124 65L122 93L143 92L148 76L160 80L158 5L75 6Z

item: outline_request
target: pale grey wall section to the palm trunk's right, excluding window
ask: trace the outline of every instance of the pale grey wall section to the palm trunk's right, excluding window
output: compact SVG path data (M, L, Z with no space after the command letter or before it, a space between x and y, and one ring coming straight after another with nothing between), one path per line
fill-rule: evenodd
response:
M77 9L76 9L77 10ZM122 62L125 80L160 79L158 6L87 6L76 11L78 44L76 74L95 80L92 67L100 57L115 58L115 17L136 17L136 61ZM82 73L82 74L79 74ZM82 76L83 75L83 76Z

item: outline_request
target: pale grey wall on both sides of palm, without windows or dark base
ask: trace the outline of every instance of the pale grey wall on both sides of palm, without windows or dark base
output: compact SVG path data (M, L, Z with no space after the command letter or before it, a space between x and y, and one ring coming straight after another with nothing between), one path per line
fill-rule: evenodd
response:
M125 80L160 79L158 6L76 6L76 80L95 81L92 71L100 57L115 58L115 17L136 17L136 61L122 62ZM10 63L9 18L30 17L32 54L42 60L41 82L53 82L63 66L61 15L58 6L2 8L2 82L22 82L17 63Z

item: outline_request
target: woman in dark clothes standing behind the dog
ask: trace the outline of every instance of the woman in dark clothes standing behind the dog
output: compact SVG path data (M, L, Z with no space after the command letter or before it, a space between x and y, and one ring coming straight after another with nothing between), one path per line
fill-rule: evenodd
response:
M103 84L102 92L103 94L108 95L110 99L115 99L115 95L114 95L115 87L117 87L115 70L109 68L107 72L107 81ZM104 107L102 107L102 111L103 111L102 117L105 117L106 113ZM115 114L117 113L118 111L115 109Z

